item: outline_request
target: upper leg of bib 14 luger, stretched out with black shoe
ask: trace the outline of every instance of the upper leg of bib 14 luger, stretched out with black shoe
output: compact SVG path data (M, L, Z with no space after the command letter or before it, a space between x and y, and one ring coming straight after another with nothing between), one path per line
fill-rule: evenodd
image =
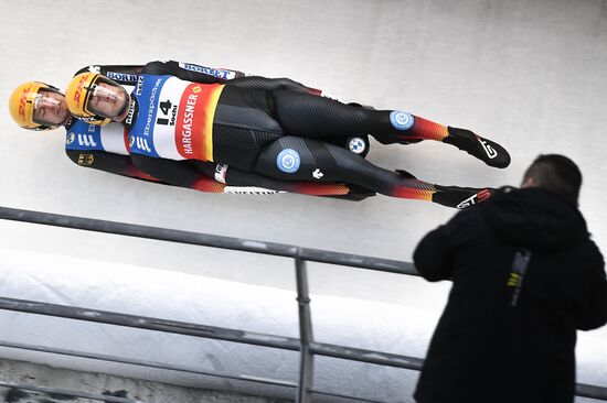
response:
M510 164L498 143L466 129L457 129L396 110L371 110L290 90L271 91L273 110L290 135L328 138L372 134L382 143L435 140L452 144L496 167Z

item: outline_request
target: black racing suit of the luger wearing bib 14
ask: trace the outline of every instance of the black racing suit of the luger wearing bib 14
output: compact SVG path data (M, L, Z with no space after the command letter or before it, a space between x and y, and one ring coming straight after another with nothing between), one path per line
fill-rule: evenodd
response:
M179 70L161 62L147 64L141 70L150 77L177 76ZM216 77L201 75L196 83L221 83ZM227 164L242 173L258 175L265 181L279 181L286 189L290 184L307 181L312 184L341 183L394 197L433 200L451 207L467 207L490 196L490 189L445 187L416 179L404 171L379 167L343 146L336 139L371 133L380 139L441 140L447 127L415 118L422 126L406 126L406 113L381 111L344 105L319 97L306 86L286 78L241 77L224 81L213 116L213 161ZM158 101L158 100L155 100ZM137 97L131 131L139 119ZM401 120L394 120L396 113ZM408 116L413 121L413 117ZM405 117L406 118L406 117ZM131 135L140 133L130 132ZM388 141L390 142L390 141ZM297 168L286 170L279 160L285 150L295 151ZM195 167L167 157L131 153L141 171L178 186L195 187ZM207 161L207 160L204 160ZM196 163L201 163L200 161ZM479 192L480 190L480 192Z

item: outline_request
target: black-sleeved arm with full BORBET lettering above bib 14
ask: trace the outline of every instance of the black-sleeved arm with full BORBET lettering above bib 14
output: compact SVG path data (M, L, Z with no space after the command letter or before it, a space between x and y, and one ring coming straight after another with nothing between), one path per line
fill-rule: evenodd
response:
M158 76L175 76L187 81L203 83L203 84L221 84L232 80L237 77L244 77L243 72L200 66L192 63L182 62L150 62L148 63L142 74L151 74Z

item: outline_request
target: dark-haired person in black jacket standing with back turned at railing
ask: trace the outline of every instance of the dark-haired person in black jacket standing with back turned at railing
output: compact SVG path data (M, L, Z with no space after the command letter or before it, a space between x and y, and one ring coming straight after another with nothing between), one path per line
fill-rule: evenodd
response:
M603 255L577 209L573 161L540 155L520 189L427 233L419 274L452 280L418 403L573 402L576 329L607 323Z

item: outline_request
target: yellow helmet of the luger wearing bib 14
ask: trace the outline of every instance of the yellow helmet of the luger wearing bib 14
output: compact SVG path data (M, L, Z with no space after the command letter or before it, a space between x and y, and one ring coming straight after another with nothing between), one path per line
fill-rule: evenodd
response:
M90 98L104 89L102 85L114 87L124 94L125 105L116 116L109 116L90 105ZM123 86L98 73L81 73L67 85L65 100L67 108L76 118L94 124L107 124L113 118L124 113L129 104L129 96Z

